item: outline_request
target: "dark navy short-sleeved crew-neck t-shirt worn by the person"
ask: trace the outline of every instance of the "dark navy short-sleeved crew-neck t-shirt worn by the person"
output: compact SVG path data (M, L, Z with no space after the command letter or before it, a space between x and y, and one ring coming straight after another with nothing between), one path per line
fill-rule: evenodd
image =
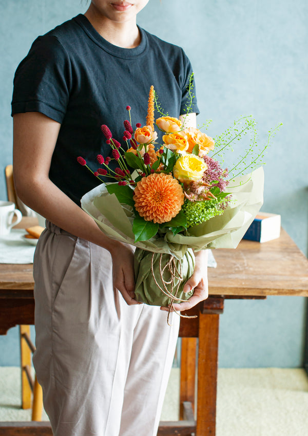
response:
M145 125L151 85L169 116L186 112L192 72L187 56L180 47L140 32L138 47L117 47L80 14L38 37L16 70L12 115L42 112L61 123L49 177L78 205L100 181L76 158L84 157L95 171L98 154L111 156L102 124L123 142L129 105L132 125ZM199 113L196 98L190 112Z

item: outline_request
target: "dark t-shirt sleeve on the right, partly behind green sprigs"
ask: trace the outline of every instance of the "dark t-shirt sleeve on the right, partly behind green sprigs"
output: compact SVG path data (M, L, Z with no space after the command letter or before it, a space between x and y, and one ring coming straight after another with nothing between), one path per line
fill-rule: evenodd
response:
M190 112L196 112L197 115L200 113L198 104L197 104L197 97L196 97L196 86L195 86L195 80L194 75L192 75L192 66L187 58L185 52L182 50L183 53L183 83L182 83L182 102L181 102L181 115L184 115L184 113L190 113ZM191 104L190 104L190 96L189 96L189 81L192 81L192 86L190 87L191 92Z

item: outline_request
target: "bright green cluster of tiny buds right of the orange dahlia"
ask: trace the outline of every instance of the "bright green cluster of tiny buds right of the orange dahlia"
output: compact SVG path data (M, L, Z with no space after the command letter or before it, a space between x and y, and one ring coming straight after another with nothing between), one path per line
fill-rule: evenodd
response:
M187 227L207 221L216 215L223 213L221 201L217 199L204 201L189 201L186 200L182 206L182 210L187 218Z

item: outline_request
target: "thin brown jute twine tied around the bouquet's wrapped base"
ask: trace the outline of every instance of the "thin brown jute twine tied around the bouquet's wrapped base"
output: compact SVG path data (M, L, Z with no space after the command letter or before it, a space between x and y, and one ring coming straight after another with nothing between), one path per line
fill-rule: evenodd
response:
M169 316L171 311L173 310L174 312L176 312L179 316L181 316L182 318L197 318L196 315L194 316L188 316L188 315L181 315L180 312L176 311L174 308L174 301L187 301L187 300L182 300L181 298L177 297L177 294L179 292L181 283L183 281L183 274L182 274L182 265L181 262L179 262L179 266L180 269L178 270L177 268L177 262L176 262L176 258L175 256L170 255L168 262L166 262L165 266L162 267L162 258L163 258L163 254L160 254L159 257L159 273L160 273L160 279L162 281L163 284L163 288L159 285L155 274L154 274L154 267L153 267L153 263L154 263L154 257L155 257L155 253L152 254L152 260L151 260L151 272L152 272L152 277L156 283L156 285L158 286L158 288L162 291L163 294L167 295L167 297L170 298L171 303L169 306L169 312L168 312L168 317L167 317L167 323L169 326L171 326L171 324L169 323ZM170 274L170 280L167 281L164 279L164 272L165 270L168 270L169 274ZM178 280L178 284L175 287L175 280ZM171 290L169 291L167 288L167 285L171 285ZM174 291L175 289L175 291Z

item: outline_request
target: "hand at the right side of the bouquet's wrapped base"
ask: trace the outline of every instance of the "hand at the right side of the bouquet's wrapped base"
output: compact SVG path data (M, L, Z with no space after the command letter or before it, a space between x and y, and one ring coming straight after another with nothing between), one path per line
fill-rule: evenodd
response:
M208 297L208 282L207 282L207 251L201 250L196 253L196 266L194 273L187 280L184 286L184 292L189 292L194 289L194 294L187 301L174 303L173 307L177 312L188 310L196 306L200 301ZM161 307L161 310L169 311L167 307Z

